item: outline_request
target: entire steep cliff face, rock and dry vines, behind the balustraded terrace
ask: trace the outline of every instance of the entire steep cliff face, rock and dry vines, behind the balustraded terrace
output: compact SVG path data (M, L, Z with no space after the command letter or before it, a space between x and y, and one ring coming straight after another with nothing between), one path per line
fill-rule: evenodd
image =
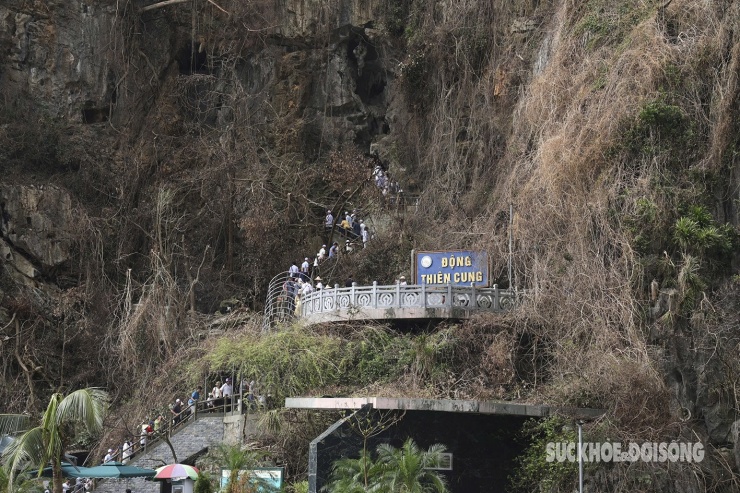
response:
M156 4L0 5L0 327L44 341L0 396L126 394L357 207L379 241L337 278L481 248L533 293L487 322L546 348L502 397L740 456L737 2Z

